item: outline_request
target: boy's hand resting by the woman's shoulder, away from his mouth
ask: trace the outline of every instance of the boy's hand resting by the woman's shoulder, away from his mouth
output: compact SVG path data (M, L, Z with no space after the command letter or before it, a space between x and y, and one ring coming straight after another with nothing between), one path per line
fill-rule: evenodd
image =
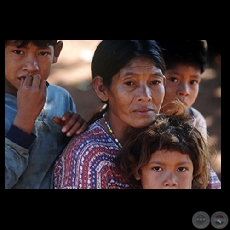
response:
M53 117L53 121L62 126L62 132L68 137L78 135L88 128L87 122L78 113L72 111L65 112L62 118Z

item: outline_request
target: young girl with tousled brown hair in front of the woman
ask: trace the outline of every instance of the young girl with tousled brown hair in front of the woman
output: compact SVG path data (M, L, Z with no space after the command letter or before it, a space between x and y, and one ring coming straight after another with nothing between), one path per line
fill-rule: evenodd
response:
M205 189L210 149L187 113L158 115L145 128L129 128L115 164L132 188Z

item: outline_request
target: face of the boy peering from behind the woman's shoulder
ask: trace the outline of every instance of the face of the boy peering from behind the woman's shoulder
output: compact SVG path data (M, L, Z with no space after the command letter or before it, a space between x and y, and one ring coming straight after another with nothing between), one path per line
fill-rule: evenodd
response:
M199 92L201 81L200 69L197 67L178 64L165 72L166 90L163 105L178 98L186 108L191 107Z

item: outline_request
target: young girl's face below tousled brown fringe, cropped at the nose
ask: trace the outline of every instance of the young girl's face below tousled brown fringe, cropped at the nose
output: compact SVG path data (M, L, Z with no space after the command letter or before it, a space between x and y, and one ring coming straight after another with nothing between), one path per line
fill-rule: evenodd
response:
M141 180L143 189L191 189L193 163L188 154L158 150L136 179Z

